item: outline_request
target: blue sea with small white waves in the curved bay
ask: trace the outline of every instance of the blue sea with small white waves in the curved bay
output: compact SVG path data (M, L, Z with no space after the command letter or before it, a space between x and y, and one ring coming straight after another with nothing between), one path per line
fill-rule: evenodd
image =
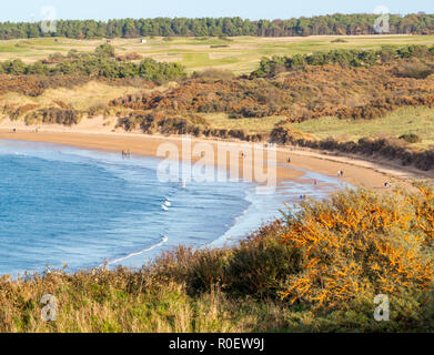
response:
M300 196L325 199L346 187L309 171L271 194L243 181L168 183L157 178L160 163L0 140L0 275L141 267L179 245L236 244L296 210ZM310 183L315 179L320 186Z

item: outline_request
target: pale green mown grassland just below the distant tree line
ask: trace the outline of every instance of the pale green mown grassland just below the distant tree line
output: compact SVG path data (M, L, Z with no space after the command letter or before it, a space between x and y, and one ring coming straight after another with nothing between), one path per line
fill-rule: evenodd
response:
M336 38L345 42L333 42ZM432 44L434 36L361 36L361 37L306 37L306 38L148 38L114 39L117 53L137 52L157 61L180 62L190 72L208 68L231 70L236 74L256 69L262 57L311 53L332 49L380 49L382 45ZM0 60L22 59L34 62L71 49L92 52L101 40L72 40L64 38L8 40L0 43ZM214 47L216 45L216 48ZM212 48L214 47L214 48Z

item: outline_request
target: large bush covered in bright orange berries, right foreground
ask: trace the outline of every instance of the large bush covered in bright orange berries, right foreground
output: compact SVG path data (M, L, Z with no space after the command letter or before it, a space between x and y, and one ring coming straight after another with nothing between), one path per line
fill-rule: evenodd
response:
M431 291L434 193L418 189L392 196L349 191L305 202L283 235L302 255L302 272L289 275L283 297L319 310L360 295Z

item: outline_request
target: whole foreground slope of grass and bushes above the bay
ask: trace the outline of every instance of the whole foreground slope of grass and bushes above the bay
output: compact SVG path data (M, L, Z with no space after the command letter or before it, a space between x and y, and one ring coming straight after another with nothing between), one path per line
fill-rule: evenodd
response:
M434 192L307 201L240 246L0 280L0 332L433 332ZM40 300L57 298L57 320ZM390 301L376 322L374 298Z

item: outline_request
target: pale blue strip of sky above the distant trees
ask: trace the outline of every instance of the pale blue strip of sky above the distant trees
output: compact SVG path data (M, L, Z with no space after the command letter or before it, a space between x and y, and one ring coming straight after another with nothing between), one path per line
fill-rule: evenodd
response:
M256 19L374 12L379 6L392 13L425 11L434 13L433 0L12 0L2 3L0 21L41 20L41 9L53 7L58 19L224 17Z

